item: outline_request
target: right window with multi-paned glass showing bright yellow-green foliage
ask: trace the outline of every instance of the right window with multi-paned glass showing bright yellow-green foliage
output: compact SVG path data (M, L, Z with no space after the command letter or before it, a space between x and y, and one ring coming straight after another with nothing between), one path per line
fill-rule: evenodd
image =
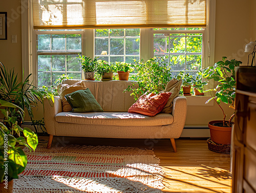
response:
M195 76L202 68L203 34L202 28L155 28L154 56L166 56L174 74L185 71Z

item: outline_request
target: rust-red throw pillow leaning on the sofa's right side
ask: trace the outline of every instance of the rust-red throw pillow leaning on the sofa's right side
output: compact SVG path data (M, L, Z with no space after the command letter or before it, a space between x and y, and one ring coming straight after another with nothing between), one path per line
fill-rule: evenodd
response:
M172 95L170 92L164 92L157 95L154 93L147 94L146 92L129 108L128 112L155 116L163 110L170 95Z

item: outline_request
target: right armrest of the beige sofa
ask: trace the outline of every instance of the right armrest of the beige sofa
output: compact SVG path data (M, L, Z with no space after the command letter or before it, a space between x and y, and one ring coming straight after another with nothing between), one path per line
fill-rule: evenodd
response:
M187 99L185 96L178 96L173 101L174 126L177 128L177 137L181 135L187 116Z

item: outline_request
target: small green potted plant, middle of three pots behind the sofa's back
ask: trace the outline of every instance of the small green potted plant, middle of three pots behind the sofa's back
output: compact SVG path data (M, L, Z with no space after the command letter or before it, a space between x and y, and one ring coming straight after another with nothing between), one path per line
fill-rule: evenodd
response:
M101 75L102 81L113 80L114 71L115 66L113 64L108 64L104 60L98 60L97 73Z

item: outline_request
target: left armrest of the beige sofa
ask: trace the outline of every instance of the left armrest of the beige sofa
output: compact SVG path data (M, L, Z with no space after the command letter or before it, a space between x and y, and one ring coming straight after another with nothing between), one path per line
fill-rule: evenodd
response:
M44 98L44 118L47 133L55 135L55 115L62 112L61 99L58 96L54 97L54 101Z

